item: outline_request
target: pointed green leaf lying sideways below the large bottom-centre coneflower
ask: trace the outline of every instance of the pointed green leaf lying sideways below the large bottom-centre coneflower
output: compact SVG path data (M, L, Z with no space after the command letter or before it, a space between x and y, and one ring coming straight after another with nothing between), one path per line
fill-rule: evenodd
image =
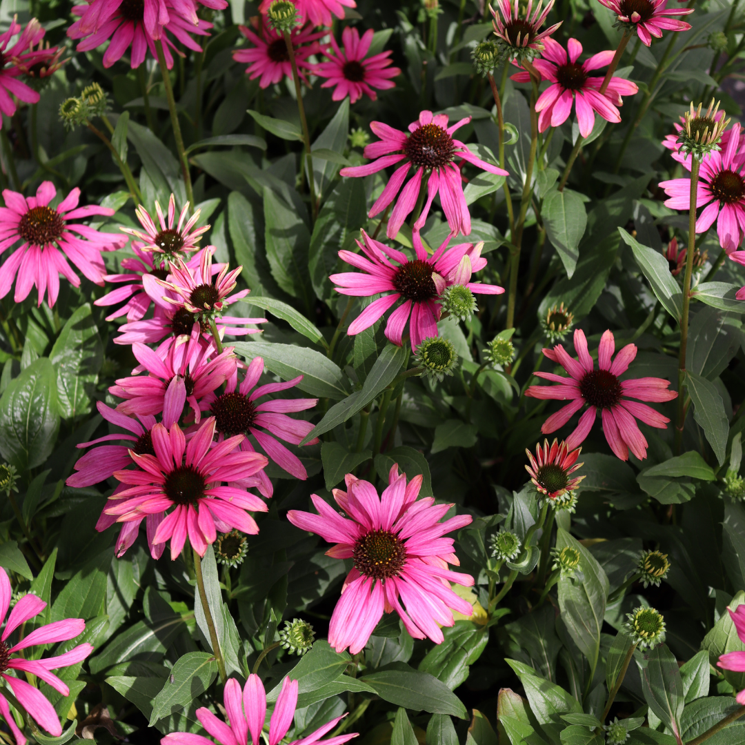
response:
M429 673L415 671L403 662L393 662L387 670L364 675L361 679L372 685L381 699L395 706L466 718L466 707L445 683Z

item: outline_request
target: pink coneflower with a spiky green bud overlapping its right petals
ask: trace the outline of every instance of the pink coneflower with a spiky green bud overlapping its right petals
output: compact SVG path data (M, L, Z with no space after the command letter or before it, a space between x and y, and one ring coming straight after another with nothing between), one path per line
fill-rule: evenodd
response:
M363 230L364 242L356 241L364 256L351 251L340 251L340 259L361 269L361 272L344 272L332 274L332 282L339 285L336 291L352 297L373 297L384 294L373 300L358 317L352 321L347 334L355 335L375 323L387 310L403 300L387 321L386 337L398 346L402 345L402 336L406 322L411 316L409 333L411 349L423 340L437 336L437 321L440 320L442 306L437 302L449 285L466 285L472 292L500 295L504 288L498 285L482 285L471 282L472 272L478 272L486 266L486 259L481 257L483 244L474 246L461 243L448 250L451 236L445 239L440 248L429 256L422 246L419 233L413 233L416 259L409 259L405 253L375 241ZM390 259L398 266L391 264Z

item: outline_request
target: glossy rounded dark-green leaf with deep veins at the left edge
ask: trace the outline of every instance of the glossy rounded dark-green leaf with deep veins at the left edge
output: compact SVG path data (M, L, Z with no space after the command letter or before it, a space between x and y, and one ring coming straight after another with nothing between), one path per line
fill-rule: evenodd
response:
M13 378L0 398L0 454L20 472L51 455L60 431L57 373L47 358Z

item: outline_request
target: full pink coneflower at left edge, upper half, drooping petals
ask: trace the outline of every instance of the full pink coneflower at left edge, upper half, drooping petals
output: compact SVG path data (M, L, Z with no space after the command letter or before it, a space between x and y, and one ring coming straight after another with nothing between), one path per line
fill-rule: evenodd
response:
M50 207L49 203L57 196L51 181L42 181L36 197L23 197L9 189L4 189L2 195L6 206L0 207L0 254L17 241L22 244L1 265L0 297L10 291L17 273L15 302L25 300L36 286L39 305L46 294L51 308L60 292L60 273L74 287L80 286L80 278L67 259L91 282L104 284L106 269L101 251L121 247L123 236L99 232L71 221L92 215L110 217L113 209L95 204L78 207L80 189L77 186L56 207Z

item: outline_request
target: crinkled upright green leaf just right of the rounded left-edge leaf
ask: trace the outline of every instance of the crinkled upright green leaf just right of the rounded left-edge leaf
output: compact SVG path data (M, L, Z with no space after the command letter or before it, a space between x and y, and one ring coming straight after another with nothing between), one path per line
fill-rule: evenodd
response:
M49 359L57 370L60 414L65 419L75 419L90 413L91 396L104 362L104 344L89 303L80 305L70 316L54 342Z

